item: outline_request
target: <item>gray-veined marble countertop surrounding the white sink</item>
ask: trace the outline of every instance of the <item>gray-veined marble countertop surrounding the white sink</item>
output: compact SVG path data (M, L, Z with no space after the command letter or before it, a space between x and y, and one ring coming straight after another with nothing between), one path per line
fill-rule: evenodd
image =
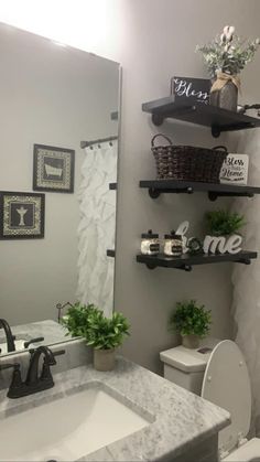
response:
M1 390L0 419L98 382L121 395L122 402L126 400L127 406L139 409L151 421L148 427L83 456L80 461L174 459L230 423L229 413L224 409L122 357L117 358L115 370L109 373L97 372L87 365L55 374L54 378L54 388L17 400L6 398L7 390Z

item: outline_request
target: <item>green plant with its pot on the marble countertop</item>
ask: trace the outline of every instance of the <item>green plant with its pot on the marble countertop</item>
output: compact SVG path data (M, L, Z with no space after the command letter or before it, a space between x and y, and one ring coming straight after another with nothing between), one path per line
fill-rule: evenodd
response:
M122 313L113 312L106 318L100 310L93 310L86 330L87 345L94 347L94 367L97 370L111 370L115 367L115 348L129 335L129 323Z

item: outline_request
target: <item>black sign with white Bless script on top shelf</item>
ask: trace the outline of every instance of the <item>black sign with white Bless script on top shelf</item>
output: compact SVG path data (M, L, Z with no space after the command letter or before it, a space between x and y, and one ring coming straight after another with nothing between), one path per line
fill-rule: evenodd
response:
M212 83L207 78L172 77L171 94L175 95L176 103L209 104Z

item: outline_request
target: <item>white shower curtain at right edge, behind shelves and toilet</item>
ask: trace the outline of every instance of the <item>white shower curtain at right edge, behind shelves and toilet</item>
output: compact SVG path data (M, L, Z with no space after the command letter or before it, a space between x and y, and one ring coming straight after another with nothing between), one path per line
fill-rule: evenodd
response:
M260 130L241 132L238 153L249 154L250 185L260 185ZM235 209L243 214L245 248L260 250L260 196L237 200ZM232 273L232 313L236 322L236 342L248 365L252 389L252 431L260 436L260 259L251 265L235 265Z

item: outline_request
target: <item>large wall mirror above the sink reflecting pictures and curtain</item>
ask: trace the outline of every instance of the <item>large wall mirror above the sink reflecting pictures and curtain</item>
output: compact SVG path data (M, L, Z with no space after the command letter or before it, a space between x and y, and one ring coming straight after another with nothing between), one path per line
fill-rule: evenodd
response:
M7 24L0 62L3 355L10 329L19 352L68 340L57 305L112 312L120 66Z

